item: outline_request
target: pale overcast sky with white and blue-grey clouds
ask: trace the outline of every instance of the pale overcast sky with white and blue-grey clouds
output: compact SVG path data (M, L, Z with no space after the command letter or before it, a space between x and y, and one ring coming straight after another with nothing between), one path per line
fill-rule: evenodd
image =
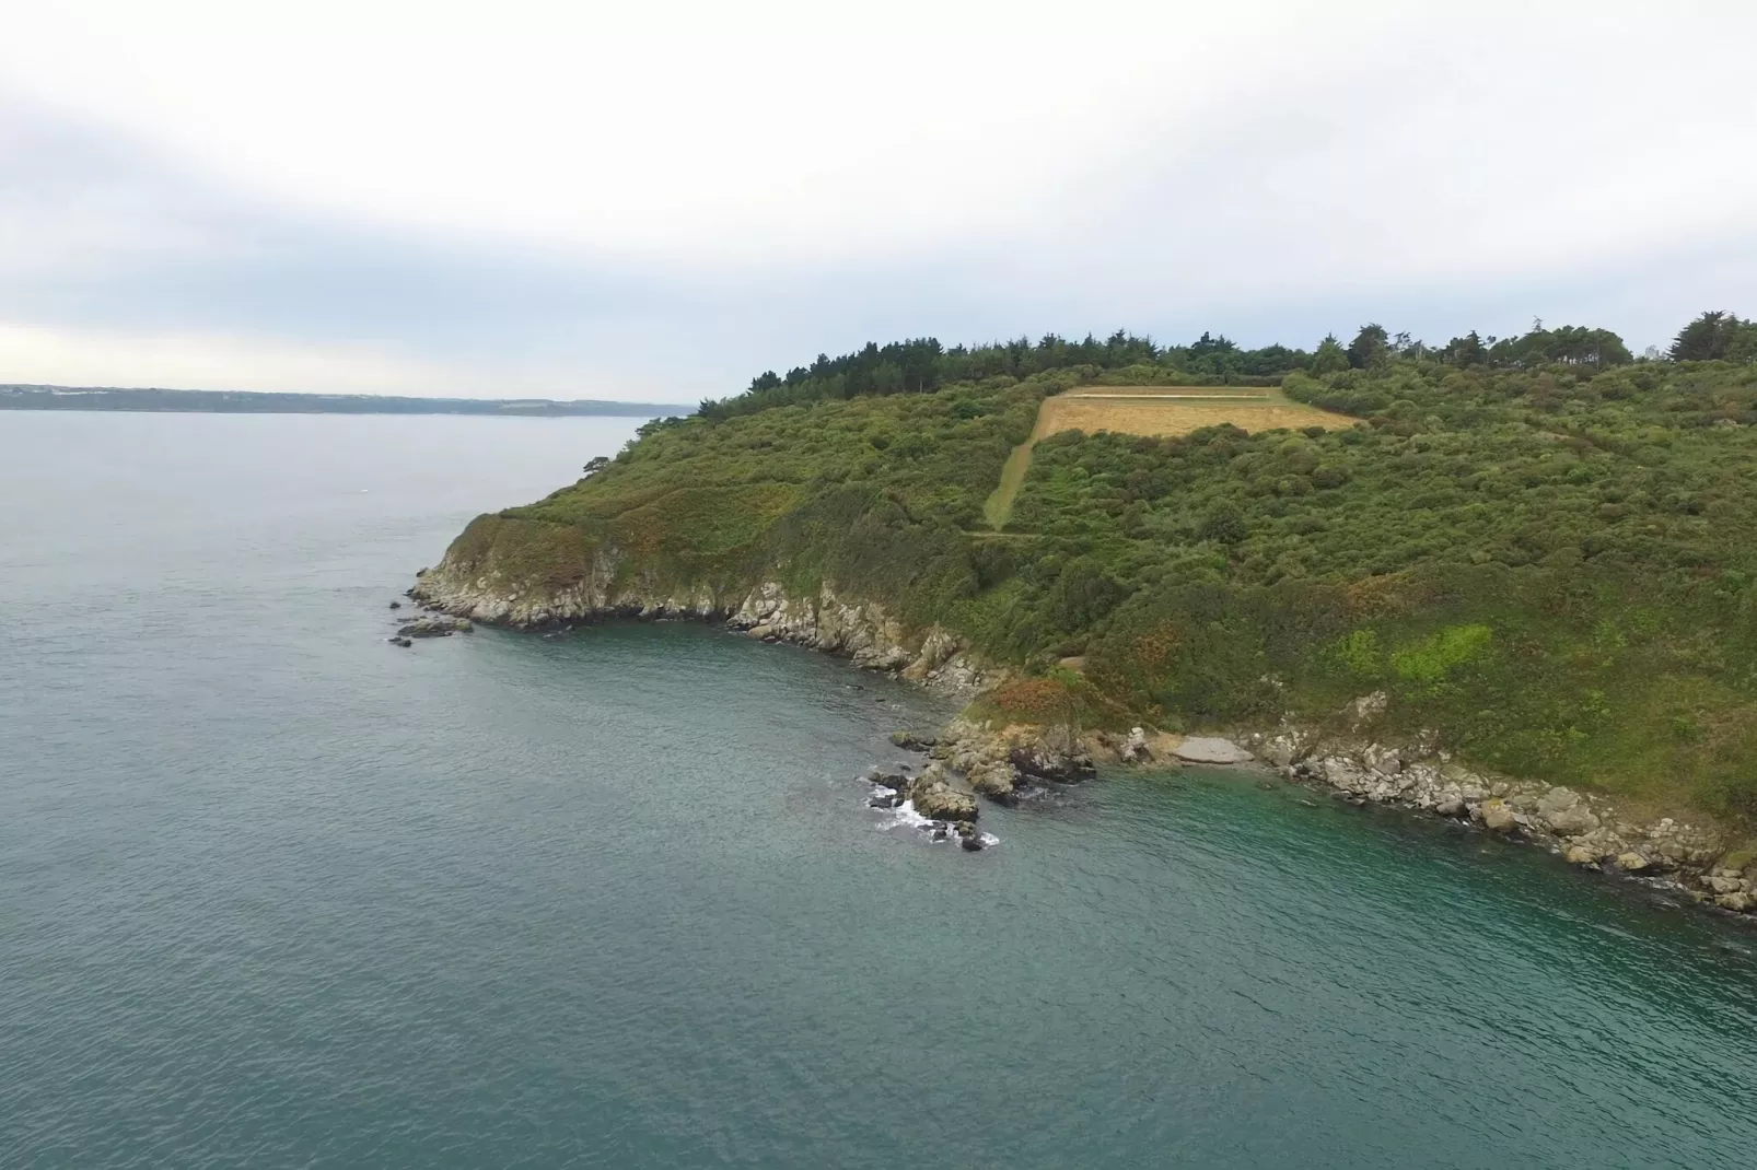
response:
M1757 314L1757 4L0 0L0 381Z

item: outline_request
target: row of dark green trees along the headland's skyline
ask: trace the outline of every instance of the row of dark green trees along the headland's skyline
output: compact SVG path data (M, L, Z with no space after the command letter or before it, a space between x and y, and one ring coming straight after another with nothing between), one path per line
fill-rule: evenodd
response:
M810 365L796 365L785 374L764 371L750 379L743 394L705 399L698 415L724 420L773 406L861 395L931 394L951 383L982 383L996 378L1017 381L1079 367L1089 367L1095 374L1130 371L1144 381L1179 376L1204 383L1274 383L1293 371L1321 376L1346 369L1376 369L1400 357L1492 371L1539 365L1608 369L1638 360L1623 339L1608 329L1581 325L1546 329L1541 320L1532 321L1532 327L1516 337L1493 334L1485 337L1471 330L1444 346L1428 346L1407 332L1392 334L1377 323L1362 325L1348 344L1330 334L1314 350L1291 350L1281 344L1246 350L1225 334L1209 332L1189 344L1161 346L1153 337L1121 329L1103 341L1091 334L1081 341L1044 334L1037 341L1017 337L951 348L940 344L936 337L912 337L884 346L870 341L861 350L835 358L819 353ZM1725 311L1703 313L1678 332L1667 351L1650 353L1639 360L1757 362L1757 320L1741 320Z

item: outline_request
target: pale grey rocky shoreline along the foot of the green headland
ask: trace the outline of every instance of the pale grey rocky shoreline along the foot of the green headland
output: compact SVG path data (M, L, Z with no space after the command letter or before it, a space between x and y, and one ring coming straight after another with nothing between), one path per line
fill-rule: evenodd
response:
M599 553L585 581L522 596L488 578L460 578L441 562L423 569L408 596L455 618L515 629L613 618L724 622L750 638L838 654L952 696L975 696L1007 678L949 631L908 631L884 606L845 599L828 583L813 597L791 597L778 581L727 596L708 587L685 592L641 583L618 587L617 569L613 553ZM1374 738L1374 724L1383 713L1383 696L1365 696L1344 711L1346 734L1284 724L1269 733L1240 733L1239 743L1144 727L1121 736L1081 736L1066 727L993 727L958 717L935 736L900 733L900 747L933 757L922 773L896 776L896 785L875 775L866 778L896 794L898 803L907 799L929 824L963 826L947 827L947 834L956 833L966 849L980 849L972 845L975 796L1016 805L1047 785L1093 776L1096 759L1149 768L1267 766L1349 803L1469 822L1550 849L1583 870L1639 878L1685 901L1757 922L1757 856L1729 854L1713 829L1673 817L1638 824L1599 794L1471 771L1432 741L1381 741Z

